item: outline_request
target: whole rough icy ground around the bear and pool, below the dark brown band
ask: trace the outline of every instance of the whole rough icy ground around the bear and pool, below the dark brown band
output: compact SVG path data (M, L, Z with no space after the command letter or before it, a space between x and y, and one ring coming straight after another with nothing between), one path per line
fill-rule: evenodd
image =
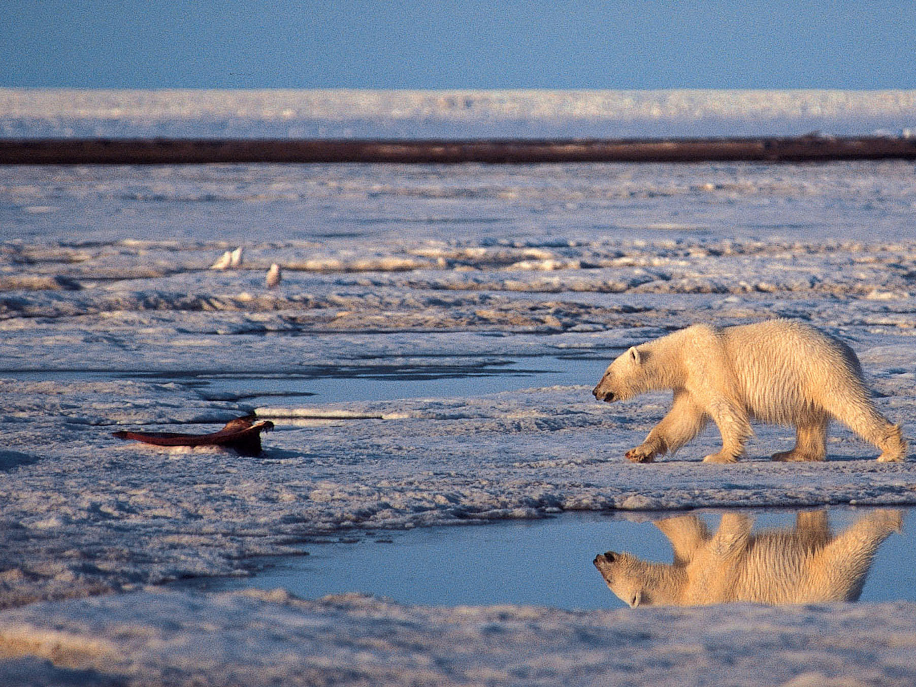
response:
M912 180L905 163L0 169L0 675L911 682L909 605L575 614L147 585L243 575L260 554L365 529L916 503L916 463L876 463L842 428L825 463L769 462L791 431L759 426L735 465L699 462L711 432L627 463L668 398L599 404L591 373L502 393L464 380L432 398L270 398L297 375L382 387L548 359L600 372L692 322L780 315L849 343L913 443ZM209 268L236 246L240 266ZM277 424L259 459L111 436L213 431L253 407Z

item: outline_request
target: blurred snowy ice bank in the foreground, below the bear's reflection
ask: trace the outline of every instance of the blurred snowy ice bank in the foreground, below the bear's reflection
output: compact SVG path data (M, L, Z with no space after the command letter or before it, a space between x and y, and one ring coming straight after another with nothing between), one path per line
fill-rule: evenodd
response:
M82 685L859 685L916 678L913 605L574 613L282 591L144 592L0 616L0 671ZM18 671L18 672L17 672ZM76 682L79 676L81 682ZM71 681L71 682L68 682Z

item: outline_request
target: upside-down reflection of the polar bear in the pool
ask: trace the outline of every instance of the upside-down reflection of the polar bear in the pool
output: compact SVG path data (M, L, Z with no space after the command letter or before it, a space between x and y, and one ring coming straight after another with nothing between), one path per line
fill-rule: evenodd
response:
M607 551L594 565L633 607L856 601L878 546L901 523L899 510L878 510L834 537L819 510L799 513L794 529L751 534L752 518L725 514L711 535L700 518L681 516L655 523L671 540L673 564Z

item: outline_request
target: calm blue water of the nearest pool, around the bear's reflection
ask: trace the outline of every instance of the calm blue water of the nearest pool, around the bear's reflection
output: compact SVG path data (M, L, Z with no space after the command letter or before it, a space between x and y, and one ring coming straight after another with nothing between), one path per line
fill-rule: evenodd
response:
M889 509L831 508L834 535L862 518ZM765 529L791 533L795 511L695 511L714 533L723 513L753 518L755 534ZM808 513L816 511L805 511ZM878 545L861 601L916 601L916 547L908 531ZM308 556L270 559L265 572L247 579L194 581L210 589L283 587L305 598L363 592L421 605L549 605L560 608L619 608L625 604L605 585L593 561L605 551L627 551L650 562L672 562L671 542L652 519L665 514L569 513L543 520L399 532L354 533L347 541L310 544Z

